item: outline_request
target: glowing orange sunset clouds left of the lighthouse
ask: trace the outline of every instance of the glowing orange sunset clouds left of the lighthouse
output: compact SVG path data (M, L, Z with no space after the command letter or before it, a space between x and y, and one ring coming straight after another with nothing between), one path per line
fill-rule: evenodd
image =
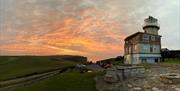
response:
M9 54L73 54L88 56L90 60L123 53L125 36L121 25L108 20L102 10L87 8L77 12L78 15L63 17L58 17L58 12L48 11L47 15L57 18L52 21L47 16L21 15L24 12L18 10L16 14L31 23L21 26L15 42L0 45L0 51Z

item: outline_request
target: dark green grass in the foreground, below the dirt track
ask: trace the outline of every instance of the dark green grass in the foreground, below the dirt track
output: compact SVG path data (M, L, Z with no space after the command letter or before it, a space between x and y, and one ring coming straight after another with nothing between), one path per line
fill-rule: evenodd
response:
M65 72L12 91L97 91L93 79L95 75L96 73Z

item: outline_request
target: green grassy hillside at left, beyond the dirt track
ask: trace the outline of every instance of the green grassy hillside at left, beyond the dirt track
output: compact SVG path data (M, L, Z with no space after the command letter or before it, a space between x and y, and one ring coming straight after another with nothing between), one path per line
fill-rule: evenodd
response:
M0 56L0 80L72 66L76 63L73 60L65 60L65 57Z

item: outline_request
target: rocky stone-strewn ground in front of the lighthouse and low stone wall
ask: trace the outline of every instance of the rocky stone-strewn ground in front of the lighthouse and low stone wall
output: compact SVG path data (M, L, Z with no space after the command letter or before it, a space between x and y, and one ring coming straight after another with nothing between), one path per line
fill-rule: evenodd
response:
M180 73L180 65L156 64L145 67L144 78L131 78L124 82L108 84L103 81L103 77L99 77L97 88L109 88L109 90L102 89L101 91L180 91L180 84L165 84L160 81L160 74Z

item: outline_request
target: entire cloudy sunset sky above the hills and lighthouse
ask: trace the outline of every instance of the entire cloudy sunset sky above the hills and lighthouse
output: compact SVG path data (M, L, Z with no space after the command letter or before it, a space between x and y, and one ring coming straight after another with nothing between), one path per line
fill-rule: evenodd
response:
M0 55L116 57L148 16L180 50L180 0L0 0L0 12Z

